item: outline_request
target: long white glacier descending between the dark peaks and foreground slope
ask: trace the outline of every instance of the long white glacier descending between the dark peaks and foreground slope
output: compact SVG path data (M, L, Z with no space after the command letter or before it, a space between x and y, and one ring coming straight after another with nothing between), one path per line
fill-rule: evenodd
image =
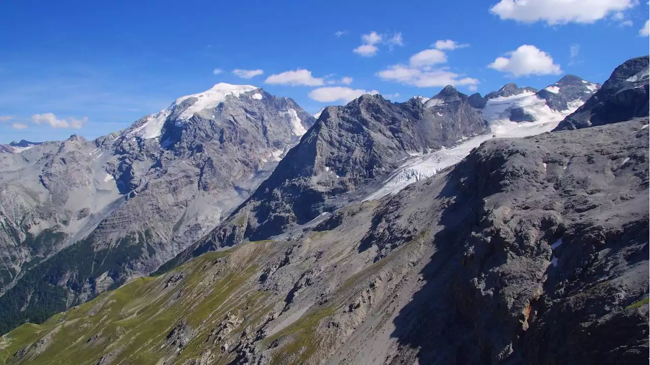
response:
M456 147L443 148L426 155L409 153L411 158L384 181L382 188L369 195L365 200L380 199L385 195L396 194L411 183L435 175L448 166L460 162L469 155L474 147L490 140L493 135L511 138L549 132L582 104L583 102L580 100L572 101L569 103L569 109L557 112L549 108L546 101L540 99L533 92L489 99L486 107L483 108L483 115L490 123L491 134L476 136L469 140L463 138ZM509 110L516 107L521 107L526 113L534 116L535 121L519 123L510 121Z

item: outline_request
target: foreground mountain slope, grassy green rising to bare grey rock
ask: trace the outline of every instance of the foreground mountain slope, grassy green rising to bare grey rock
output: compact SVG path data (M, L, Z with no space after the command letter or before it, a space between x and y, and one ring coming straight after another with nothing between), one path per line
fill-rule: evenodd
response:
M0 359L642 363L648 123L488 141L293 238L207 253L22 325Z

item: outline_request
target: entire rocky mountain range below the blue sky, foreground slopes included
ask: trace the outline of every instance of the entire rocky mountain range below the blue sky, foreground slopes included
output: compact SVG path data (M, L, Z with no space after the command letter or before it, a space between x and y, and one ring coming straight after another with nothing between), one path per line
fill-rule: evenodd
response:
M217 84L93 141L6 148L0 330L42 324L0 359L650 359L649 69L317 120Z

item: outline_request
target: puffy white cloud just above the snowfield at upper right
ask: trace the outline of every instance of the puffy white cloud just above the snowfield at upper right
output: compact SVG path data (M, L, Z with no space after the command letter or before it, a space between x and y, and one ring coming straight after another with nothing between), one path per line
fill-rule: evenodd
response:
M508 72L514 77L529 75L558 75L562 73L560 65L553 63L551 55L540 51L534 45L522 45L516 51L510 51L508 57L499 57L489 68Z

